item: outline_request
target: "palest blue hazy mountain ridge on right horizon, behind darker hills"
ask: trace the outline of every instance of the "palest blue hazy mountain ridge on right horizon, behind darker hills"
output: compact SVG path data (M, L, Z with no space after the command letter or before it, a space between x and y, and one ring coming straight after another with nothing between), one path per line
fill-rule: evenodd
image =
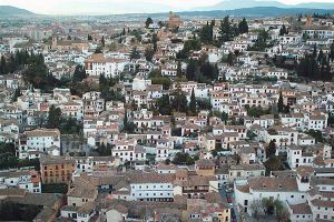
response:
M276 0L224 0L215 6L196 8L194 10L197 11L234 10L234 9L254 8L254 7L334 9L334 2L333 3L310 2L310 3L299 3L299 4L284 4Z

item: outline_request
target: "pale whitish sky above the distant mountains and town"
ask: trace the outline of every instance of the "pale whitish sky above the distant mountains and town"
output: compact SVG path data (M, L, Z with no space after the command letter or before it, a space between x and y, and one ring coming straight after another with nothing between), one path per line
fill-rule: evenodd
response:
M40 14L129 13L183 11L214 6L223 0L0 0ZM239 0L235 0L239 1ZM277 0L286 4L333 2L334 0Z

